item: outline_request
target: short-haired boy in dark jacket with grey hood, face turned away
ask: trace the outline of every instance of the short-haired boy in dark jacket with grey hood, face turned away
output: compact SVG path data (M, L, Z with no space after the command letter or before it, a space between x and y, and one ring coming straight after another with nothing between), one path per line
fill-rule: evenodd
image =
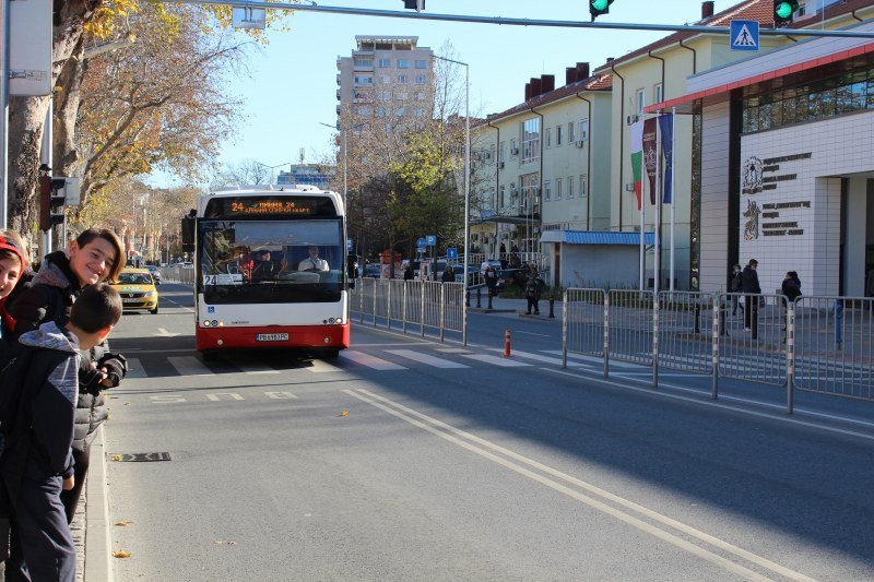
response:
M15 429L0 464L12 508L8 580L75 580L75 548L60 494L74 483L70 447L79 397L79 351L103 342L119 319L118 292L98 283L82 290L69 320L44 323L19 338L22 349L34 352Z

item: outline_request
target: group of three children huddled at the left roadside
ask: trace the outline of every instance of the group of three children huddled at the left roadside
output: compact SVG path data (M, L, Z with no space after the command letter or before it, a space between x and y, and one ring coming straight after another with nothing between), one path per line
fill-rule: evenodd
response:
M70 523L85 483L103 391L127 361L106 338L121 319L108 283L125 266L118 237L83 231L29 270L14 231L0 233L0 580L75 580Z

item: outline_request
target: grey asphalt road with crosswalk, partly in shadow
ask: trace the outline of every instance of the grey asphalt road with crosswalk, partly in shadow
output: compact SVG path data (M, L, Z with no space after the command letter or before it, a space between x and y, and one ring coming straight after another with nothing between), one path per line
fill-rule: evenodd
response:
M119 581L874 579L864 430L563 369L558 324L513 314L208 366L161 292L110 338Z

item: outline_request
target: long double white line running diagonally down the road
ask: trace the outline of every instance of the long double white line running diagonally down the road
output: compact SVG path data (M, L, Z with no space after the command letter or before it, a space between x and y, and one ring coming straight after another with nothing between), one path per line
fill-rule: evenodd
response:
M415 427L418 427L437 437L440 437L441 439L445 439L458 447L474 452L480 456L483 456L484 459L487 459L496 464L509 468L510 471L513 471L522 476L525 476L536 483L550 487L555 491L564 494L570 497L571 499L576 499L577 501L580 501L598 511L601 511L602 513L605 513L619 521L623 521L640 530L641 532L645 532L647 534L652 535L653 537L657 537L669 544L672 544L673 546L676 546L677 548L688 551L689 554L697 556L710 563L719 566L728 570L729 572L735 573L748 580L768 580L759 572L751 570L749 568L746 568L728 558L724 558L701 546L697 546L692 542L688 542L680 537L678 535L662 530L660 526L664 526L666 528L673 528L683 535L697 539L701 544L708 544L722 553L731 554L732 556L739 559L747 560L748 562L754 563L760 568L770 570L771 572L778 575L791 578L792 580L804 580L804 581L813 580L800 572L795 572L779 563L768 560L767 558L753 554L752 551L745 550L741 547L734 546L723 539L720 539L710 534L701 532L700 530L696 530L690 525L686 525L685 523L676 521L672 518L662 515L657 511L653 511L634 501L619 497L595 485L583 482L582 479L579 479L571 475L567 475L566 473L562 473L558 470L555 470L553 467L539 463L532 459L523 456L519 453L505 449L491 441L476 437L475 435L472 435L464 430L460 430L441 420L437 420L436 418L418 413L408 406L393 402L389 399L380 396L368 390L364 389L343 390L343 392L374 407L387 412L388 414L395 416ZM528 467L531 468L528 468L524 465L528 465ZM536 470L540 473L535 473L532 470ZM551 477L555 477L555 479ZM559 483L559 480L565 483ZM574 489L570 486L577 487L577 489ZM588 494L591 495L581 492L578 489L587 491ZM595 496L603 500L597 499ZM618 507L610 506L607 504L607 502ZM637 513L648 520L651 520L652 522L656 522L659 525L657 526L653 523L643 521L641 518L635 516L634 513Z

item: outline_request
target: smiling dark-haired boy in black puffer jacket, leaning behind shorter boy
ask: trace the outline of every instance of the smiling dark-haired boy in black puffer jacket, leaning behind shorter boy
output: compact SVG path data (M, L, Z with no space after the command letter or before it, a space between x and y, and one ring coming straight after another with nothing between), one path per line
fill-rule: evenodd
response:
M48 321L69 317L74 301L88 285L114 283L125 268L123 248L108 229L88 228L70 244L68 251L46 256L29 286L9 307L15 319L15 334L21 335ZM61 501L68 522L73 521L91 460L91 443L97 428L106 420L103 391L119 384L127 373L127 360L109 352L104 342L90 348L79 371L73 461L75 485L64 490Z

